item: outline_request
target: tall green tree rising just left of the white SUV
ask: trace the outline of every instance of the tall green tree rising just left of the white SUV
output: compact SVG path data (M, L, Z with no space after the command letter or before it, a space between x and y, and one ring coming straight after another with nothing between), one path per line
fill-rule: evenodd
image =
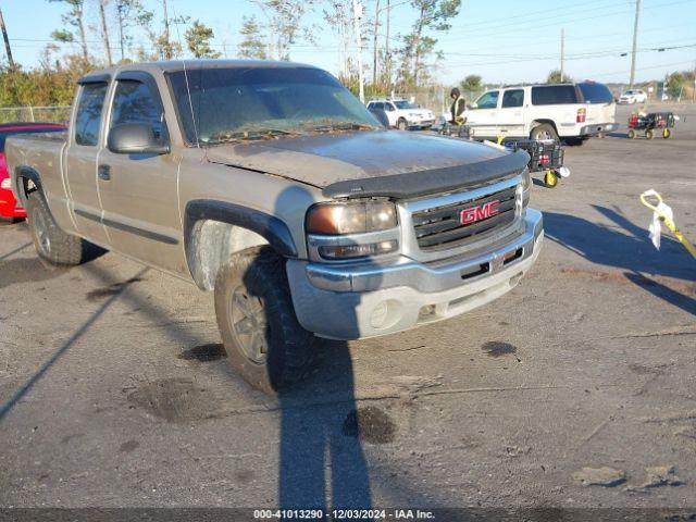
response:
M437 44L437 39L430 36L430 33L451 28L450 21L459 14L461 0L411 0L411 7L415 10L417 17L411 33L403 37L401 74L408 75L409 83L418 88L419 77L426 70L425 61Z

